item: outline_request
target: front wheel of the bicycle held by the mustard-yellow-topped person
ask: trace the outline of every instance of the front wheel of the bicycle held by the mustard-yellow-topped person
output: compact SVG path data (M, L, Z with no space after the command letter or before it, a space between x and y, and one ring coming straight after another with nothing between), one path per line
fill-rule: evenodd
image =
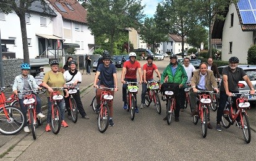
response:
M53 105L51 110L51 128L54 134L58 134L61 130L61 111L58 105Z

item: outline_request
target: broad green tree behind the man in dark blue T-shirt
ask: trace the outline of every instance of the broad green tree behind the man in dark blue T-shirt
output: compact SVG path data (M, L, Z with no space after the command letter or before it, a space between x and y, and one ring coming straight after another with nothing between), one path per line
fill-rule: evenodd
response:
M142 23L141 0L89 0L87 5L87 22L92 35L106 36L113 54L114 42L125 28L138 29ZM128 33L127 33L128 35Z

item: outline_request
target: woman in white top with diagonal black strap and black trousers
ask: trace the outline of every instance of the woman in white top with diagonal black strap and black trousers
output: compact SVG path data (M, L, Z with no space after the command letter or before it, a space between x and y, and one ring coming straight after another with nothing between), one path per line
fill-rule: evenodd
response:
M77 62L75 62L74 60L71 60L69 62L69 68L70 69L64 72L63 74L66 80L66 84L72 84L74 86L77 86L77 82L82 81L82 75L77 70ZM89 119L89 117L85 113L85 109L83 109L79 88L77 88L77 93L73 94L72 96L74 97L75 102L77 103L77 109L79 110L79 114L82 116L82 118ZM67 115L68 115L67 118L69 118L70 120L72 119L72 117L70 112L69 97L64 97L64 100L65 100L66 109L67 109Z

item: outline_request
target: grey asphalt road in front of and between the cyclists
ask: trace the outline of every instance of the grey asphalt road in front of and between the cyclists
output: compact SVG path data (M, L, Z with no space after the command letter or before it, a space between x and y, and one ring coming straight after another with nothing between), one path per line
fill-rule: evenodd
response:
M140 64L145 64L141 61ZM157 61L160 72L169 59ZM80 118L77 123L67 120L68 128L61 128L59 134L46 133L45 123L40 126L38 138L33 141L32 134L23 139L30 142L15 160L255 160L256 133L252 131L252 141L246 144L242 130L231 126L223 131L215 130L216 112L211 112L212 130L202 138L201 125L194 125L190 109L181 112L180 121L168 125L163 121L165 102L161 103L159 115L153 105L139 109L135 119L122 109L121 72L117 74L119 91L114 96L115 125L100 133L97 115L93 113L90 102L95 89L88 88L82 98L89 120ZM138 106L141 86L139 86ZM251 124L255 126L255 104L249 111ZM25 144L25 143L24 143ZM23 144L19 144L22 146ZM15 148L15 147L14 147ZM7 160L8 158L4 159Z

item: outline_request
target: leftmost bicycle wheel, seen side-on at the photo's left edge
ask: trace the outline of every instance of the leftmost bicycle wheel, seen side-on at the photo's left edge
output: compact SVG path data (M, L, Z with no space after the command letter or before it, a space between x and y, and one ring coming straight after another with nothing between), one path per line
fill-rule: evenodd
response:
M24 125L24 116L22 112L15 106L5 107L10 120L8 121L4 115L4 109L0 110L0 133L4 135L12 135L19 133Z

